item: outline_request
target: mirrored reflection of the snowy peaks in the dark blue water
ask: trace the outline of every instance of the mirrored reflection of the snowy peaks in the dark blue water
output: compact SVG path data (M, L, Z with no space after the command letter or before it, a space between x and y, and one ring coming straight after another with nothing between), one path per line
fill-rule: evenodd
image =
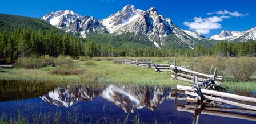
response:
M108 85L102 89L93 89L89 86L59 87L41 96L43 101L57 106L70 107L79 101L90 101L97 97L105 98L119 106L126 113L134 113L135 109L149 108L155 111L165 100L173 99L171 88L159 86L123 86Z

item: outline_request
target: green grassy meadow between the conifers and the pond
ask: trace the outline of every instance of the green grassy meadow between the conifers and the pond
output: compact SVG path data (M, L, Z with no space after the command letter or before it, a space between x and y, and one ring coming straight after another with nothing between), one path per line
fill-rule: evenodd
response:
M153 69L139 68L134 65L120 64L125 59L138 59L138 61L146 61L153 59L156 63L167 63L170 59L171 63L174 58L156 57L156 58L127 58L127 57L99 57L89 60L82 57L80 60L67 59L69 63L46 64L45 67L39 69L25 68L0 68L0 80L38 80L52 81L56 84L131 84L131 85L160 85L175 87L177 84L190 86L189 83L173 80L170 73L157 73ZM254 58L253 58L254 59ZM58 60L58 59L57 59ZM56 60L56 61L57 61ZM254 59L255 60L255 59ZM55 60L52 60L55 61ZM61 61L61 60L58 60ZM178 65L191 65L195 71L209 71L211 63L218 68L218 75L223 75L226 82L222 86L229 90L256 90L256 74L250 77L250 81L231 81L227 75L227 62L225 58L201 57L201 58L185 58L178 57ZM235 61L235 59L233 60ZM41 62L42 63L42 62ZM253 63L255 63L253 61ZM199 67L201 65L201 67ZM205 73L205 72L203 72Z

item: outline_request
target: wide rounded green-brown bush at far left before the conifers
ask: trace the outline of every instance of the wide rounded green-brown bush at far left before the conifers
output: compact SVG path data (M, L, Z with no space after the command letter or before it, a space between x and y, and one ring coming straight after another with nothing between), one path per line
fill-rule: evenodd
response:
M46 63L43 59L39 59L37 57L25 57L18 58L14 64L14 67L26 69L39 69L42 67L46 67Z

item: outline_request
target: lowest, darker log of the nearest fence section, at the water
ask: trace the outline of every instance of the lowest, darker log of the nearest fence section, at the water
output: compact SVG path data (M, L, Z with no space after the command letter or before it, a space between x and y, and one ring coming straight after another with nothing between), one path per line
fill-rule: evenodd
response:
M185 108L181 106L177 106L178 111L186 111L189 113L194 113L195 109ZM226 113L222 111L210 111L210 110L202 110L201 114L207 114L207 115L213 115L213 116L219 116L219 117L229 117L229 118L237 118L237 119L245 119L249 121L256 121L255 116L253 115L243 115L243 114L237 114L237 113Z

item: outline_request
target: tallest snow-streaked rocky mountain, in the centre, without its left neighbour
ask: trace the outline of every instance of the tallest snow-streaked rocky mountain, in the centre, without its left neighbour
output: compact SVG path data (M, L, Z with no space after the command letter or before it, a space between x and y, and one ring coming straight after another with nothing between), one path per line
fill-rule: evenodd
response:
M121 11L110 15L103 19L101 23L106 27L107 31L113 34L123 34L131 32L140 36L146 36L156 47L168 45L165 38L168 35L174 35L172 40L186 44L187 46L195 46L197 40L206 40L201 34L187 34L178 26L171 22L170 18L164 18L158 14L155 7L151 7L147 11L135 9L133 5L126 5ZM196 36L195 36L196 35Z

